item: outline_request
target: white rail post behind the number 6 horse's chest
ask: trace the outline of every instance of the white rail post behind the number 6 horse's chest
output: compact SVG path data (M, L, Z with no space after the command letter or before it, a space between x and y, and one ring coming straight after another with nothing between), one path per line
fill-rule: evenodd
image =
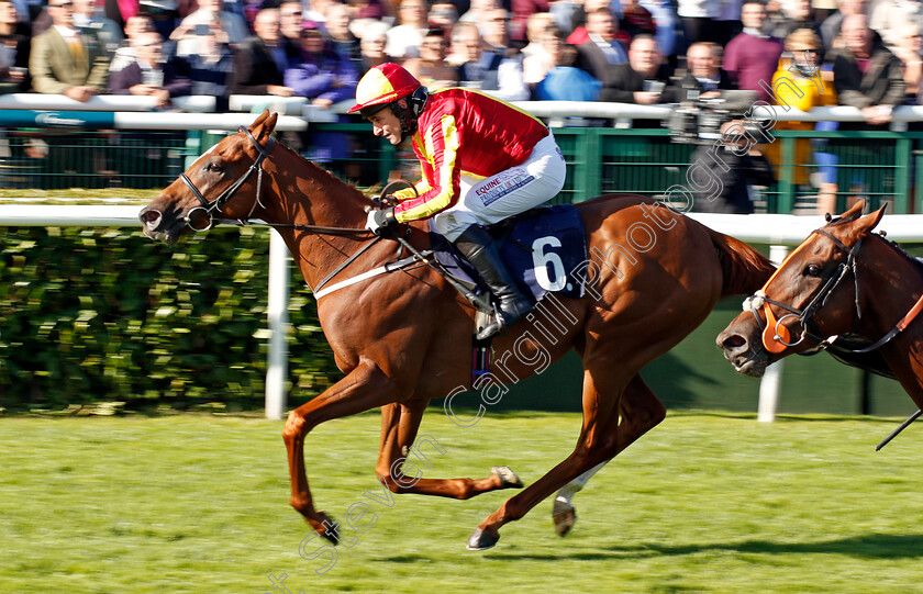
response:
M266 363L266 418L279 421L286 407L288 374L288 270L289 251L282 237L269 233L269 352Z

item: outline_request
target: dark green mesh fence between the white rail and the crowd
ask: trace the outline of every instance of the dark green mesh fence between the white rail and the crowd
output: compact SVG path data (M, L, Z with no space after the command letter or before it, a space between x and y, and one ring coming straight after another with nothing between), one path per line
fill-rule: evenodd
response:
M604 192L658 197L686 184L693 147L674 144L666 130L559 127L555 137L568 161L558 202L580 202ZM322 134L321 134L322 133ZM794 141L825 143L836 164L837 210L850 197L891 212L923 212L923 133L774 131L782 165L778 181L763 191L757 212L788 213L815 192L792 183ZM408 146L393 147L372 136L368 124L312 124L309 133L281 133L281 141L311 156L331 143L341 155L324 161L344 179L370 187L399 177L414 179L419 166ZM0 145L0 186L4 188L162 188L221 138L220 134L148 131L9 130ZM4 145L4 146L3 146Z

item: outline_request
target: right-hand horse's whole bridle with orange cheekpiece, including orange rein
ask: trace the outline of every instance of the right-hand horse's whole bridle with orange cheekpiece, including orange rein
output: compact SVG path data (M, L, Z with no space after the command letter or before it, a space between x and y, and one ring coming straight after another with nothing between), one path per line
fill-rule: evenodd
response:
M816 313L824 307L827 302L830 301L831 295L836 290L837 287L846 279L846 276L852 273L853 274L853 284L855 287L855 304L856 304L856 318L860 320L863 317L861 305L859 303L859 276L856 271L856 258L858 256L859 249L863 245L863 239L865 236L860 237L858 242L850 248L830 233L824 229L814 229L811 235L813 234L823 235L824 237L829 238L834 245L841 249L842 251L846 253L845 261L841 262L835 270L831 271L830 274L824 279L823 284L821 288L814 293L811 300L808 302L808 305L804 307L793 307L788 305L787 303L782 303L780 301L776 301L770 299L766 295L766 288L769 287L769 283L772 282L772 279L776 274L769 278L766 281L766 284L763 285L763 289L757 291L754 295L747 298L744 301L744 311L749 311L753 313L754 317L756 318L757 325L763 330L763 346L772 354L780 354L787 348L798 346L801 344L805 338L811 340L815 340L818 346L812 349L810 354L816 354L821 350L835 350L839 352L853 352L853 354L864 354L876 350L888 341L890 341L894 336L903 332L904 328L913 321L914 317L923 310L923 295L916 301L913 307L898 322L890 332L888 332L885 336L872 343L871 345L861 347L861 348L847 348L841 345L834 344L835 340L839 337L839 335L834 335L830 337L822 337L820 333L811 332L811 320L816 315ZM811 235L808 237L810 238ZM801 247L805 246L808 240L805 240ZM786 262L788 262L797 253L799 247L794 251L792 251L788 258L779 266L779 270L781 270ZM778 270L777 272L778 273ZM776 320L772 309L770 305L775 305L781 310L785 310L789 313L782 315L778 320ZM764 315L766 316L766 325L763 325L763 321L759 317L759 310L764 311ZM802 332L801 336L792 341L791 334L787 326L785 326L783 322L787 318L793 317L798 321L801 325ZM847 333L848 335L849 333Z

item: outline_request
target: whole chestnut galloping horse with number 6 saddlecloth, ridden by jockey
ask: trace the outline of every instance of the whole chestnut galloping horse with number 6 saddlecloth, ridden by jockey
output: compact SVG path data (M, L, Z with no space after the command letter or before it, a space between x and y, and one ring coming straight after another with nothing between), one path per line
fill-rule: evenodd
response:
M259 218L285 238L315 291L333 274L337 288L319 293L318 315L346 377L288 416L291 505L336 541L336 525L315 508L308 486L304 440L320 423L372 407L381 407L376 472L392 492L467 498L521 486L505 470L445 480L402 468L427 403L471 388L475 310L431 267L372 276L402 257L399 244L387 236L374 243L364 228L368 199L275 144L275 124L276 115L265 112L222 139L140 216L147 236L168 243L190 226L210 226L212 214ZM642 197L600 197L577 208L598 256L585 262L586 296L554 296L559 332L533 315L494 338L492 363L496 381L519 381L574 348L583 365L582 430L569 457L478 526L468 540L472 550L493 546L501 526L657 425L666 410L638 371L692 332L720 296L748 294L772 271L746 244ZM425 222L400 233L418 250L429 247Z

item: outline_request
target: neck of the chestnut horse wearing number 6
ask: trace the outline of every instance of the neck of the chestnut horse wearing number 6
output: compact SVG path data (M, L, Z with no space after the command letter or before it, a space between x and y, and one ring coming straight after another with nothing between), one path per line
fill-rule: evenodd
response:
M304 280L311 287L355 253L365 235L336 235L323 232L286 228L283 225L310 225L362 229L366 214L365 199L354 187L346 184L314 164L283 153L287 159L275 161L274 190L278 195L267 197L264 220L280 225L289 251L298 264Z

